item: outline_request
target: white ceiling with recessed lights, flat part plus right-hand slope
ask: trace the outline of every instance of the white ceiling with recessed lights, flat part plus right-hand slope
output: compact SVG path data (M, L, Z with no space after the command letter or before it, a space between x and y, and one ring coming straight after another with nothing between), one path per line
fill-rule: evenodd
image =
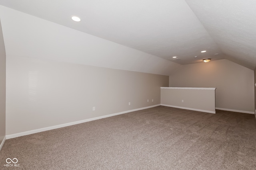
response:
M256 66L255 0L0 0L0 5L178 64L225 58Z

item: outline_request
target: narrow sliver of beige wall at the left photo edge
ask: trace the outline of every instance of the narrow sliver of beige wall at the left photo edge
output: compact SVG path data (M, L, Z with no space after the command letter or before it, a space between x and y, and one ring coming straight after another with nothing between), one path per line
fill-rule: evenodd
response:
M0 144L5 137L6 54L0 22Z

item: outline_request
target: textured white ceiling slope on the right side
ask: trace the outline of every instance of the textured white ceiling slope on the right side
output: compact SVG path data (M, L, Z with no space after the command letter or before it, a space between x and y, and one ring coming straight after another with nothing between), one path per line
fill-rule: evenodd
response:
M255 0L186 0L226 59L256 66Z

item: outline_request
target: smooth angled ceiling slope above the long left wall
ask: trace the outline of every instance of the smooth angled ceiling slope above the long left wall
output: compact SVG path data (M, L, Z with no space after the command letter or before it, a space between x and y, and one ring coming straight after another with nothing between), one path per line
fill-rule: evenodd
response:
M169 75L172 61L0 5L6 57Z

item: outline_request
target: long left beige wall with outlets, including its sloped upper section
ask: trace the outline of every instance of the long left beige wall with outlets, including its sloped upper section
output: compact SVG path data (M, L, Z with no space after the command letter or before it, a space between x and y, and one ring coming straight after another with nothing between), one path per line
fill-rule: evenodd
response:
M4 6L0 17L6 135L160 104L169 80L156 74L180 66Z

